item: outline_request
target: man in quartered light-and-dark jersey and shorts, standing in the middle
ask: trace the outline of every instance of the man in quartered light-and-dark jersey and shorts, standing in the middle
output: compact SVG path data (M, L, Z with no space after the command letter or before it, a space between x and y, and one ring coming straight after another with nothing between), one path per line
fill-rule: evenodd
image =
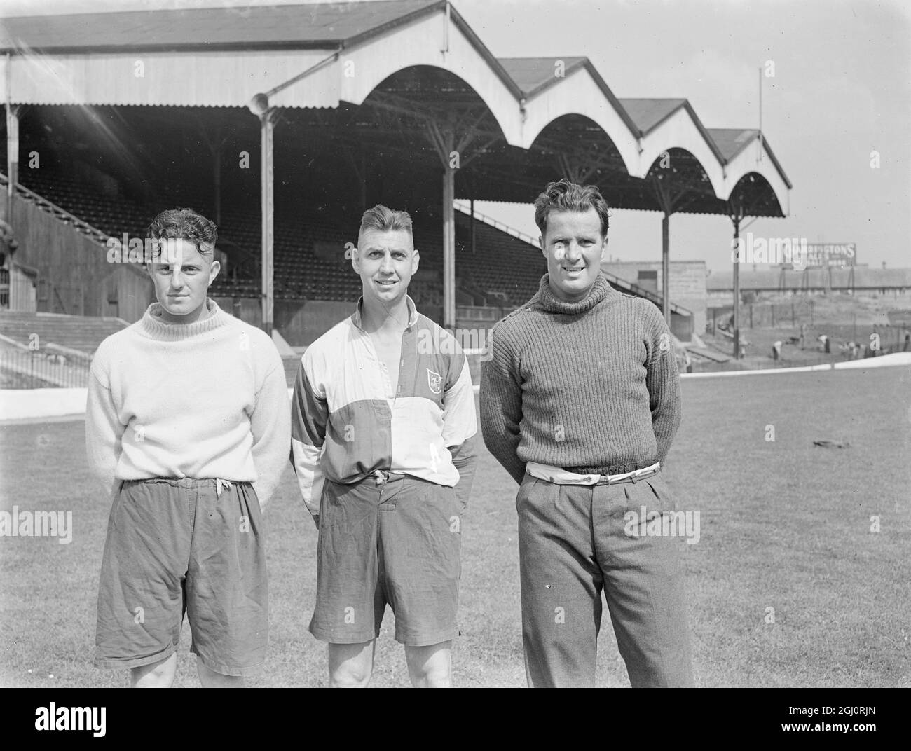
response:
M320 530L311 633L333 686L365 686L386 604L415 686L451 685L462 513L475 473L465 354L415 310L411 218L363 214L363 297L302 357L292 462Z

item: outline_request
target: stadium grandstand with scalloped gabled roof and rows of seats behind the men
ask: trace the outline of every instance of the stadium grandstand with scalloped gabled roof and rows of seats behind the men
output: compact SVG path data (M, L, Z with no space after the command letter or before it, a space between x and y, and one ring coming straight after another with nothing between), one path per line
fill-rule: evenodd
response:
M496 58L445 0L9 17L0 53L11 340L14 314L83 317L97 336L138 320L150 282L108 262L110 238L142 238L175 206L219 226L211 296L292 347L351 312L346 243L377 202L411 213L411 294L456 330L489 328L547 270L534 240L475 200L595 183L613 208L660 213L664 269L674 213L736 233L788 211L791 183L759 131L706 128L682 98L618 99L586 57ZM689 340L673 289L609 279ZM73 341L91 351L93 336Z

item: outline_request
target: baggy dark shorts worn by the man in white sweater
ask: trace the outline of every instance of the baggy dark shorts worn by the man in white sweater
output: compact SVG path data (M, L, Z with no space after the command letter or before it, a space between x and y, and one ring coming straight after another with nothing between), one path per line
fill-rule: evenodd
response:
M249 482L120 483L98 586L95 665L139 667L176 649L184 613L190 651L222 675L262 664L269 638L260 502Z

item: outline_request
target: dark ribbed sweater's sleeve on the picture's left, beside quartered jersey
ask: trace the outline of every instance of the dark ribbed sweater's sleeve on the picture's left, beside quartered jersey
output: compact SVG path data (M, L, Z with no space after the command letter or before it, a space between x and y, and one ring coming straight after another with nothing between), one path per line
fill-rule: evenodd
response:
M516 373L515 359L497 328L491 334L481 361L481 432L487 450L522 484L525 463L517 455L521 439L522 387Z

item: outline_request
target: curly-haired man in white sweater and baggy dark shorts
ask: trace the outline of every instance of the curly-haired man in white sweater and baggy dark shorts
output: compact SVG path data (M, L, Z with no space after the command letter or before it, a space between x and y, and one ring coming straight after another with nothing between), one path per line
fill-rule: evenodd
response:
M159 301L101 343L88 383L88 463L112 500L95 662L171 685L186 612L202 685L243 685L268 643L262 509L291 446L284 369L269 336L208 299L209 219L164 211L147 237Z

